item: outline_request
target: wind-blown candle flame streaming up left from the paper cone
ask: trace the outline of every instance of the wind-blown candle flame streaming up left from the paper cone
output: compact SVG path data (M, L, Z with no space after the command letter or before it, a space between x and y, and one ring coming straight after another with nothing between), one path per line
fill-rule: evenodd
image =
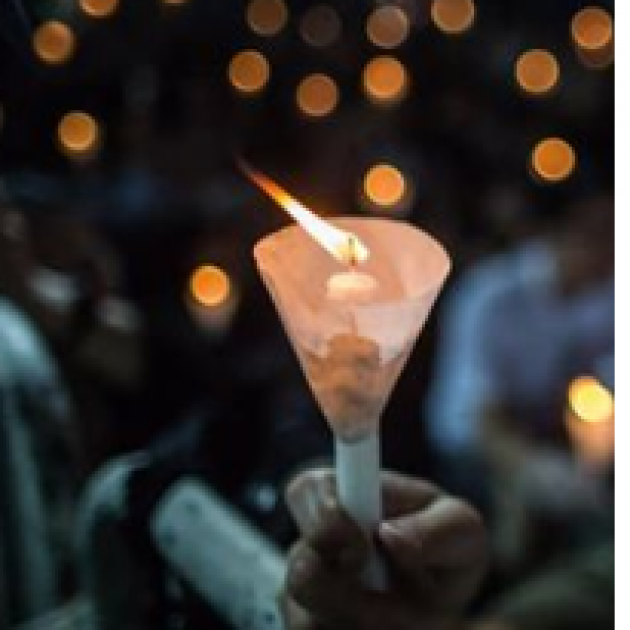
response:
M241 162L249 179L286 210L302 228L339 262L357 265L365 262L370 250L356 234L335 227L317 216L272 179Z

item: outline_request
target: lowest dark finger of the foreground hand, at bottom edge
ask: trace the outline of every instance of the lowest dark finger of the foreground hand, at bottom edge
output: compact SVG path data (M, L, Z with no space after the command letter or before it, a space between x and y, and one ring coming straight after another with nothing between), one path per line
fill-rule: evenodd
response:
M304 542L289 555L286 589L310 621L326 628L413 630L422 620L415 606L398 595L367 591L358 580L331 570Z

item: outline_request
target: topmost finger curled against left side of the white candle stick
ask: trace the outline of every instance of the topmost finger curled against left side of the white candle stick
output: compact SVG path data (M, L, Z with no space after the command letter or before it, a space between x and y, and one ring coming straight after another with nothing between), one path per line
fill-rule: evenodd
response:
M302 473L287 487L287 505L304 540L330 565L357 573L370 553L370 541L343 511L330 470Z

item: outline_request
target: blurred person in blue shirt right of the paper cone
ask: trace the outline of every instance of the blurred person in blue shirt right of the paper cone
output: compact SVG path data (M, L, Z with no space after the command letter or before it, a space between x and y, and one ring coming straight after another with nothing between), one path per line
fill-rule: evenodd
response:
M456 284L426 405L428 435L446 465L493 451L500 423L488 418L502 413L526 419L509 430L520 446L526 436L557 437L568 383L596 373L614 351L613 231L612 200L591 199L555 231L479 263Z

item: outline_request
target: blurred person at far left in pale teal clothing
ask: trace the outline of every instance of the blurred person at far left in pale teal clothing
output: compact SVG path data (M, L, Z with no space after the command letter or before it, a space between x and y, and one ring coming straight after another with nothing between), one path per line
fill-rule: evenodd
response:
M77 384L120 384L134 373L128 349L135 351L136 330L107 260L87 223L34 216L7 199L0 205L0 621L7 624L45 612L76 588L75 503L107 426Z

